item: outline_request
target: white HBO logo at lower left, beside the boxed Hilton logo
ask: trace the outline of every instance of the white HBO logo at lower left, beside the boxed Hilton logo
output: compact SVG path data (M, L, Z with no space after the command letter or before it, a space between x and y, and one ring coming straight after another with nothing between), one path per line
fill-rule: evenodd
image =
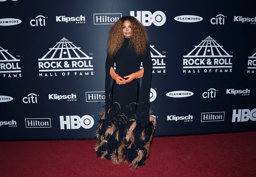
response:
M59 116L59 121L62 130L65 129L65 125L67 129L79 129L81 126L84 129L90 129L94 124L93 118L89 115L84 115L81 118L77 115L66 116L66 120L64 120L64 116Z

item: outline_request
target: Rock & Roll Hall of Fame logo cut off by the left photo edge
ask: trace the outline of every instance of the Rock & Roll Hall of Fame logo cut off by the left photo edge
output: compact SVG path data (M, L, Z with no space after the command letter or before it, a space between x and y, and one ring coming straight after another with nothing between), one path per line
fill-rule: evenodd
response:
M17 57L20 57L17 55ZM12 56L8 50L0 47L0 73L3 77L21 77L20 60Z

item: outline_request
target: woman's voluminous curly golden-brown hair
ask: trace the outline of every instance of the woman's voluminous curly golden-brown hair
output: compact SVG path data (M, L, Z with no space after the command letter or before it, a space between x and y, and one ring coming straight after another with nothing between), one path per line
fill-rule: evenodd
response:
M120 18L110 29L108 37L108 53L110 59L113 59L117 50L123 44L123 22L129 20L131 23L130 46L134 46L137 55L142 56L146 51L146 45L149 44L148 34L145 27L132 16Z

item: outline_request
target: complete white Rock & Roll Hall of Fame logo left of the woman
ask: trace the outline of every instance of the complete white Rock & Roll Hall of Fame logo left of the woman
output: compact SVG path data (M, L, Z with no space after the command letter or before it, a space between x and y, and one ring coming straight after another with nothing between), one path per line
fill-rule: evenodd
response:
M93 57L89 57L73 42L62 38L53 48L49 49L42 58L38 59L39 76L93 75L91 64Z

